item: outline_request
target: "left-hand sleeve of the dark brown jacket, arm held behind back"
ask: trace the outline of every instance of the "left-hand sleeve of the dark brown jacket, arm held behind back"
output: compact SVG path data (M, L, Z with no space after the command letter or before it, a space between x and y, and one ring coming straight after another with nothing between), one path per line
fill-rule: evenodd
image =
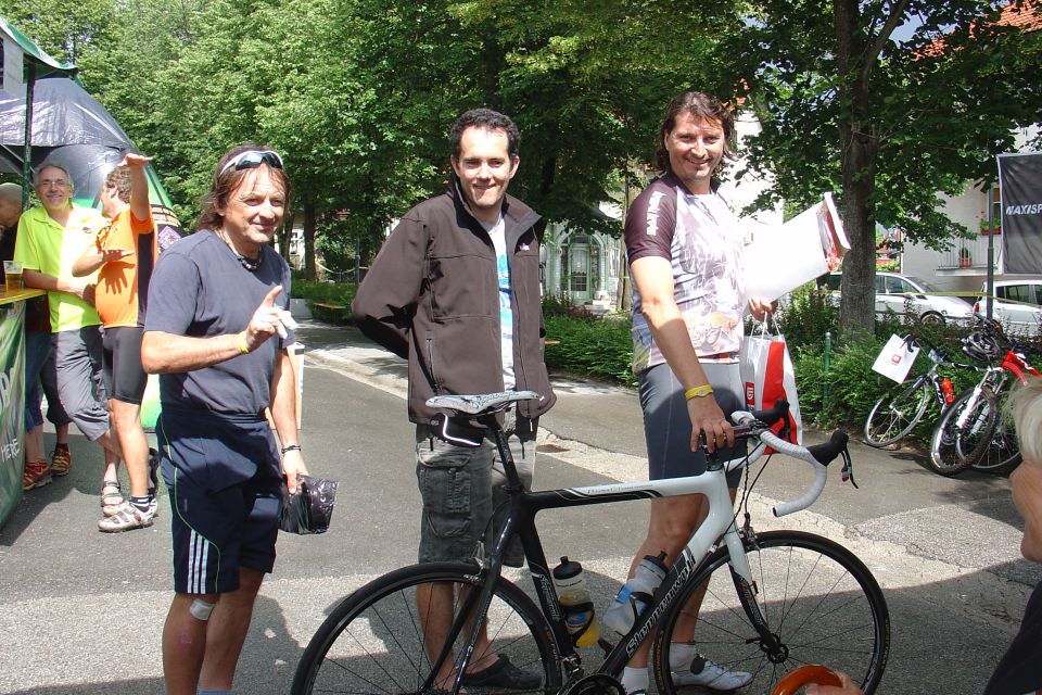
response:
M427 225L407 216L383 243L351 303L355 325L403 358L427 268Z

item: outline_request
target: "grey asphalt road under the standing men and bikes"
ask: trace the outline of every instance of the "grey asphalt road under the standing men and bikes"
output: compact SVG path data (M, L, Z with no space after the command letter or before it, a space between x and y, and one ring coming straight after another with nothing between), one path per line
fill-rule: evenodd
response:
M350 329L305 324L301 337L305 459L341 488L329 533L279 541L239 666L241 693L287 693L330 607L415 561L419 501L403 365ZM634 394L562 379L556 388L559 403L542 424L536 486L643 479ZM169 506L161 501L151 529L99 533L100 450L78 434L72 450L72 473L26 495L0 529L0 693L162 693ZM757 528L829 535L871 567L892 623L880 692L979 693L1042 579L1019 557L1021 523L1005 480L948 480L905 454L856 444L851 453L861 490L837 476L812 510L784 519L772 518L770 505L796 496L803 473L768 466L753 494ZM583 563L599 610L643 539L644 504L541 515L547 556Z

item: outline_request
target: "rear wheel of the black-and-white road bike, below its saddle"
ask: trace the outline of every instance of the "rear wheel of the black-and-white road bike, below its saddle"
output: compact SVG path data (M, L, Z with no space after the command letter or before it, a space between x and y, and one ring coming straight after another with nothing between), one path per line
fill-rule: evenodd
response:
M422 694L444 691L432 674L450 633L449 670L461 662L469 619L467 597L481 590L484 574L467 563L414 565L384 574L338 605L312 637L293 679L293 695L310 693ZM440 596L443 610L435 619ZM474 602L470 602L473 604ZM531 598L503 579L486 615L491 653L523 672L511 693L546 693L560 687L561 670L550 627ZM480 646L480 645L479 645ZM471 664L488 660L475 649ZM443 671L444 674L444 671ZM517 673L514 673L517 675ZM444 685L444 684L443 684ZM503 692L501 684L465 682L470 693Z

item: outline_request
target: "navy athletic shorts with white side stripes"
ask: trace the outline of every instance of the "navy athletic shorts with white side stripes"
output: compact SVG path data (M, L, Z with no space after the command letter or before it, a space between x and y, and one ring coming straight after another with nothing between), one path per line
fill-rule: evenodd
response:
M232 421L164 406L156 424L173 507L174 591L239 589L239 569L270 572L282 477L266 420Z

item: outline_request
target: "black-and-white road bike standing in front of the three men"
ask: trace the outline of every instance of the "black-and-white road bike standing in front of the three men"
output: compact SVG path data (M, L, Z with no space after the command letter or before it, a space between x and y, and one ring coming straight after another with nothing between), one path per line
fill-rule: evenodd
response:
M568 695L625 695L617 679L650 639L658 692L673 695L681 685L669 666L669 645L684 623L689 634L691 616L685 608L700 591L706 593L695 631L697 652L725 668L750 672L753 680L744 692L767 693L786 671L808 664L827 664L851 674L866 694L875 691L889 654L890 620L872 572L828 539L797 531L754 531L748 513L748 475L740 502L747 510L739 525L726 482L728 470L749 465L770 445L814 469L805 494L779 504L774 514L803 509L821 494L826 466L837 457L842 456L843 476L852 480L843 432L805 448L779 439L768 424L787 413L783 401L771 413L734 414L736 435L754 444L752 452L727 462L710 456L700 476L526 492L496 413L529 399L538 395L512 391L428 401L431 407L487 428L508 480L509 513L503 531L484 561L405 567L344 598L307 645L293 681L295 695L505 692L465 679L470 664L491 656L479 647L482 635L492 654L508 658L531 681L516 683L509 692ZM558 604L535 515L544 509L694 493L709 501L706 521L630 632L614 644L602 639L603 661L587 670ZM504 549L516 536L524 548L535 602L501 573ZM434 586L452 589L447 595L453 598L446 602L452 606L443 606L440 621L429 615ZM599 658L595 648L590 650L586 655L590 661Z

